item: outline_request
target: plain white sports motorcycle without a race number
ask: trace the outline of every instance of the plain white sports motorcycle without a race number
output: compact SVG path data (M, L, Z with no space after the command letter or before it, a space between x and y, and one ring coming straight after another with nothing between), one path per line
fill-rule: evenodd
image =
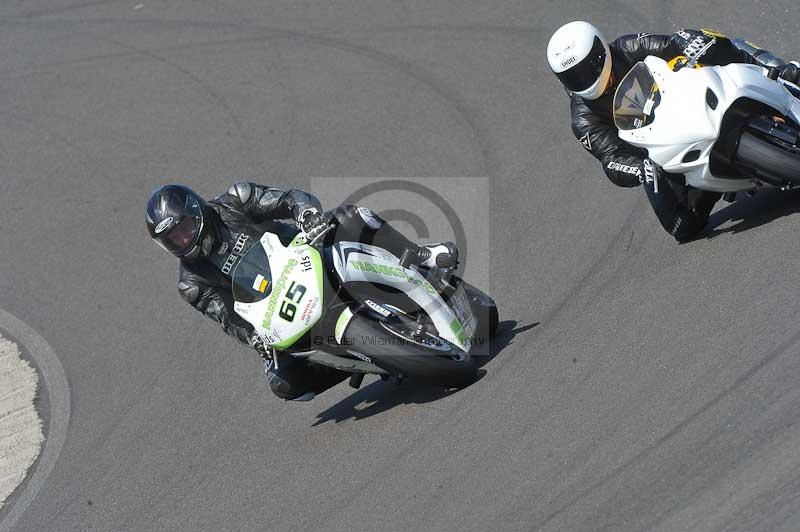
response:
M617 88L614 123L620 139L646 149L665 171L729 201L739 191L800 187L800 88L775 69L673 70L647 57Z

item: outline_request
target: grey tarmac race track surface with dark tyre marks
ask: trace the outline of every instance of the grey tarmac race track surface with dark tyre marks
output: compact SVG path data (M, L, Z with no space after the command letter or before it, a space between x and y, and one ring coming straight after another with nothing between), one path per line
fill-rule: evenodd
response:
M15 530L800 529L800 195L723 205L676 245L574 140L544 60L574 18L797 57L799 11L3 3L0 307L53 347L71 397ZM153 186L319 176L489 178L507 345L481 380L285 404L178 298L143 225Z

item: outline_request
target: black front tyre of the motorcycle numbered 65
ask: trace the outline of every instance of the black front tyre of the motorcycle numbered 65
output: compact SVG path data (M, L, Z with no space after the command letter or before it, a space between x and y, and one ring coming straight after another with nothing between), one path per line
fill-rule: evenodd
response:
M443 341L432 347L422 345L402 337L386 323L353 316L344 331L348 350L368 357L395 376L447 388L463 388L475 381L478 364L469 354Z

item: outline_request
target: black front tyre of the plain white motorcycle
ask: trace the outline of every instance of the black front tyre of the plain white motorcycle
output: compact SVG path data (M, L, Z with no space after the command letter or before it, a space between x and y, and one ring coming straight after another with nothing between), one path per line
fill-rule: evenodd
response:
M800 148L780 139L742 133L736 160L765 176L800 185Z

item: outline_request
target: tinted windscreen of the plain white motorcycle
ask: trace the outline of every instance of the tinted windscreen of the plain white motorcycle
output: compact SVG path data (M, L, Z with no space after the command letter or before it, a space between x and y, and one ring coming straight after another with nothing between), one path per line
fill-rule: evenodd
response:
M661 92L650 69L636 63L614 93L614 125L623 131L645 127L655 120L660 103Z

